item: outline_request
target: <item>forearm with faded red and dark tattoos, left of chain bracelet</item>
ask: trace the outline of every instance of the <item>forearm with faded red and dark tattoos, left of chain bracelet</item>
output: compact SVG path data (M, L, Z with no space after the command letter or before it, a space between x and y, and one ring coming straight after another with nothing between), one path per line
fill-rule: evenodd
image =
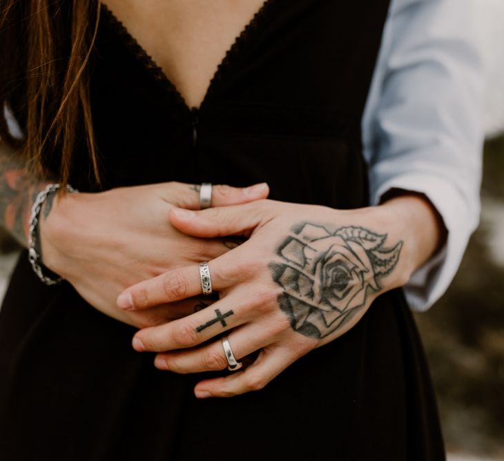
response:
M23 246L28 245L32 204L46 184L30 177L21 159L0 140L0 225ZM44 213L48 210L50 204L46 204Z

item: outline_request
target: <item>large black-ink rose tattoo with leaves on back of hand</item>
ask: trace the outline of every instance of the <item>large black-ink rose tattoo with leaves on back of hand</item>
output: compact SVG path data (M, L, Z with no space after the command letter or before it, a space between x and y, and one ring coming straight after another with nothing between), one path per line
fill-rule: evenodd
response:
M385 248L386 239L358 226L335 232L308 222L297 226L277 248L282 262L269 264L293 330L326 337L364 308L369 291L380 291L380 278L394 271L403 247L400 241Z

